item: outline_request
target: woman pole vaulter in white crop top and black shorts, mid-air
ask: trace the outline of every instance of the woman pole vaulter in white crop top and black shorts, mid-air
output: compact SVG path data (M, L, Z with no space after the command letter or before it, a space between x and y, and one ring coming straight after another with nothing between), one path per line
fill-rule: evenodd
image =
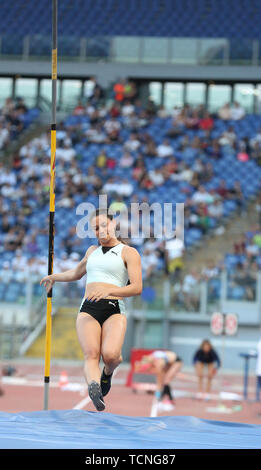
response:
M76 330L89 396L102 411L113 371L122 361L127 327L124 297L141 294L142 268L138 251L116 237L116 221L107 210L96 210L90 222L99 245L90 246L75 269L46 276L40 284L49 292L55 282L76 281L87 273ZM100 357L104 362L102 374Z

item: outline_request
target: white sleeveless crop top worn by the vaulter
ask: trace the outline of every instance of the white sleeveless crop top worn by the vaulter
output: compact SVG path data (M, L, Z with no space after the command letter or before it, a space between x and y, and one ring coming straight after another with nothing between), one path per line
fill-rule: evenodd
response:
M124 287L128 282L128 271L121 256L123 243L118 243L103 253L99 246L88 257L86 263L86 284L106 282L117 287Z

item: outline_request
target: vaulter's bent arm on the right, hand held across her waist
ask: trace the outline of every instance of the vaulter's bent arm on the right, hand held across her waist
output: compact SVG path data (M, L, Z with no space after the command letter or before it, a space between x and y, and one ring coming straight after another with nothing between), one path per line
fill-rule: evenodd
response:
M132 297L140 295L142 292L142 267L141 258L138 251L131 247L125 246L122 253L123 261L128 270L130 283L125 287L115 287L110 291L110 295L115 297Z

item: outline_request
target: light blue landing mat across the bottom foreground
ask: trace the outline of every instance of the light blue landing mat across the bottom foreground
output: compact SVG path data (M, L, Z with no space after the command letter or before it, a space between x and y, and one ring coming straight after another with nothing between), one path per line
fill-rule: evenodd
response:
M83 410L0 413L1 449L260 449L261 425Z

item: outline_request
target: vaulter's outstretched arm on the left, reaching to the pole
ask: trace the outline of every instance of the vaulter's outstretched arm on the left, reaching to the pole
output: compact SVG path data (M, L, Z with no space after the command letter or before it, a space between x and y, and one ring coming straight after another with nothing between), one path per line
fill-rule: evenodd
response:
M55 282L73 282L78 281L86 274L86 263L88 256L96 249L95 245L92 245L86 251L82 260L77 264L77 266L73 269L69 269L68 271L64 271L62 273L55 273L50 274L49 276L45 276L41 279L40 285L44 285L46 291L53 287Z

